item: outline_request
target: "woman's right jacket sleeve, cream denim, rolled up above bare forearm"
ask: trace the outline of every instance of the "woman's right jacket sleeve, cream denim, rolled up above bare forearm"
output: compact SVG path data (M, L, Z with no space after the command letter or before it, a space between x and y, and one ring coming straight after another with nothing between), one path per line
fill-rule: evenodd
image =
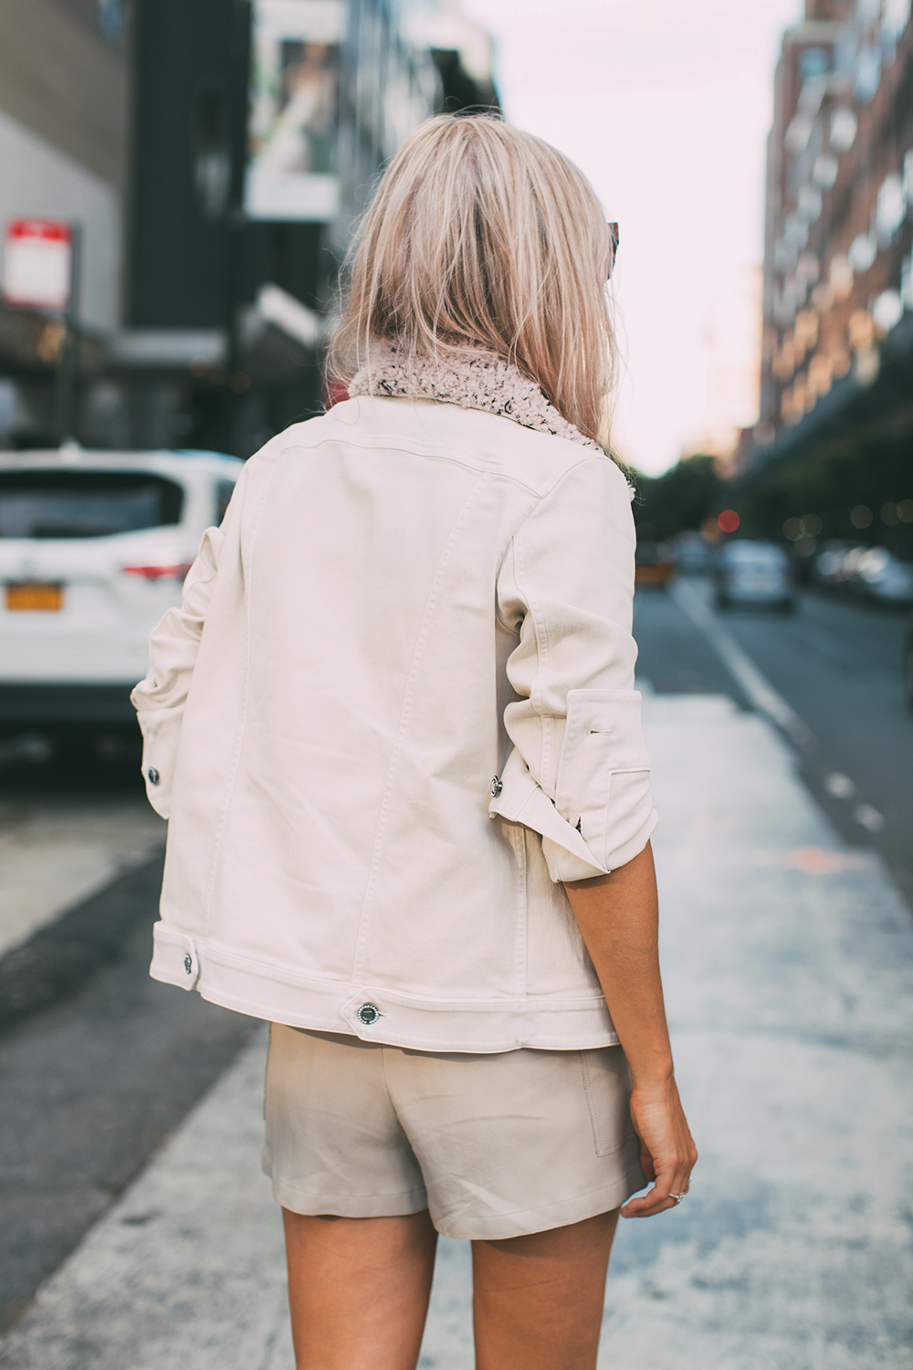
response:
M542 836L553 881L624 866L657 822L634 689L634 547L630 488L591 458L527 516L498 577L519 697L504 712L513 751L489 812Z

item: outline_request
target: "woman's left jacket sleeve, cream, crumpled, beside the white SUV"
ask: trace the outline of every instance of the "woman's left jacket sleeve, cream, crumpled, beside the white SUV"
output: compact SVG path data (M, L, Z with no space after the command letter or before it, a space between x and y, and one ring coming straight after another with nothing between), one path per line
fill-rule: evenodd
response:
M241 481L244 477L241 477ZM208 527L183 582L181 606L167 610L149 634L149 670L134 686L130 701L142 730L142 775L149 803L163 818L171 810L171 790L193 667L203 626L215 589L226 530L240 504L240 486L220 527Z

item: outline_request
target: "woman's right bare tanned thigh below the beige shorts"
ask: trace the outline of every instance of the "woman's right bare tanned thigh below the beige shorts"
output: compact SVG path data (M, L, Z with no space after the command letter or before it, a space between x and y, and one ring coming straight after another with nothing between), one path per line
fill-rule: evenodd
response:
M617 1219L472 1243L476 1370L594 1370Z

